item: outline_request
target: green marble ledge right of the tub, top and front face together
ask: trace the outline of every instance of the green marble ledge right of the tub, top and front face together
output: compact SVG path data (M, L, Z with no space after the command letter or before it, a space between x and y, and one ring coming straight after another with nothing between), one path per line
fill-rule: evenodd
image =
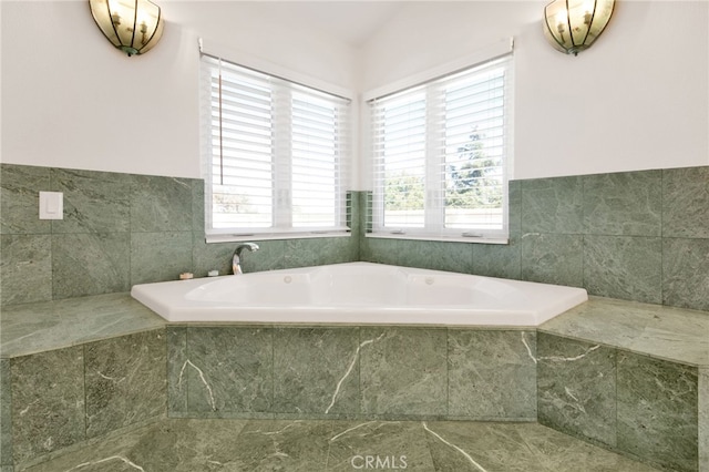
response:
M592 297L537 329L537 356L540 423L709 471L706 312Z

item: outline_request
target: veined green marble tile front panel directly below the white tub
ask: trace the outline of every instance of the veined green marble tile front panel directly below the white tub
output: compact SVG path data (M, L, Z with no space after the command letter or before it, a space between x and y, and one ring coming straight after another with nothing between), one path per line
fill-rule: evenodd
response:
M534 421L534 330L167 328L175 418Z

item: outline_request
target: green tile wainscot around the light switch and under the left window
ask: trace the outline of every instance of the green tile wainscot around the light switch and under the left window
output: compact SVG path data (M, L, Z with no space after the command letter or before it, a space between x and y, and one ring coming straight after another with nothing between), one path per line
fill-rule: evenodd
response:
M41 220L39 192L64 194ZM359 198L350 218L359 227ZM235 243L205 244L202 179L0 164L0 302L127 291L181 273L230 274ZM349 237L259 242L247 271L359 260Z

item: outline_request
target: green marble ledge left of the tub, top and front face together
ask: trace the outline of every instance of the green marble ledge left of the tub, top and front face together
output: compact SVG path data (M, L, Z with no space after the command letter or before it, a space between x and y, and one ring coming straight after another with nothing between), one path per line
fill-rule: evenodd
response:
M165 415L165 322L129 294L3 307L0 324L0 465Z

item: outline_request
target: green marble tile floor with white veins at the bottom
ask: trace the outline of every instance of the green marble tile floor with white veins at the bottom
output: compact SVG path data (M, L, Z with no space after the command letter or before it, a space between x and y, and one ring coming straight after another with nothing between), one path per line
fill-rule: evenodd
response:
M537 423L165 419L33 472L655 471Z

